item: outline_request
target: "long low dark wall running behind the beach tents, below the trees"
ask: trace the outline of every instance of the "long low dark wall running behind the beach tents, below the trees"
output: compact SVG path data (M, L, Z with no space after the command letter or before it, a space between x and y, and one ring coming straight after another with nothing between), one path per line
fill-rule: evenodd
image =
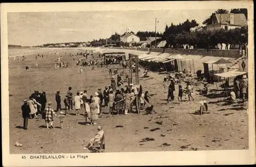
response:
M120 48L115 47L115 49L129 49L135 50L136 48L126 47ZM235 58L238 59L241 57L240 50L220 50L220 49L170 49L170 48L137 48L140 51L150 51L150 52L164 52L164 53L178 53L178 54L189 54L189 55L203 55L203 56L212 56L212 57L225 57L225 58Z

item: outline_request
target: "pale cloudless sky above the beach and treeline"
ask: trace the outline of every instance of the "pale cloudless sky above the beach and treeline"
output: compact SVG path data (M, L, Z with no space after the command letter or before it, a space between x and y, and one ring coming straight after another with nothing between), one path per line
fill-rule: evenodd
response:
M165 25L195 19L200 25L215 9L151 11L84 11L8 13L8 44L36 46L46 43L87 42L128 31L164 32Z

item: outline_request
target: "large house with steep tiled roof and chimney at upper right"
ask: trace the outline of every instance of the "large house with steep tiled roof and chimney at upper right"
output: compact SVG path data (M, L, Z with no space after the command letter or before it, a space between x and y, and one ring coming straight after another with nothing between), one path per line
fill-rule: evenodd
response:
M212 23L206 25L206 30L231 30L242 26L247 26L247 20L243 13L216 14Z

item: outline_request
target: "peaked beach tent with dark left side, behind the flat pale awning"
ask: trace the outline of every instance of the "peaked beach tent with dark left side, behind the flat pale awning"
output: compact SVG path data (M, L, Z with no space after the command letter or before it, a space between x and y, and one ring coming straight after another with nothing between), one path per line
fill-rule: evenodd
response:
M206 78L213 77L214 80L219 81L219 77L214 75L216 73L228 72L228 65L232 65L232 62L223 58L217 61L204 62L204 76Z

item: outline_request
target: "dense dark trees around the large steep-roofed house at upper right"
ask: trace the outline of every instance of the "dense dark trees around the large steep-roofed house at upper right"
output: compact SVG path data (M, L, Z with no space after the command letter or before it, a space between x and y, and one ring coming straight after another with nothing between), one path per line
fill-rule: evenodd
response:
M247 9L232 9L231 13L244 13L247 17ZM204 20L203 24L211 24L216 13L228 13L225 9L218 9ZM192 27L199 24L196 20L186 20L183 23L174 25L173 23L165 26L162 40L166 40L167 44L172 47L180 48L183 44L196 46L197 48L215 48L218 43L225 44L243 44L247 43L248 31L247 27L236 28L233 30L217 30L217 31L196 31L190 32Z

